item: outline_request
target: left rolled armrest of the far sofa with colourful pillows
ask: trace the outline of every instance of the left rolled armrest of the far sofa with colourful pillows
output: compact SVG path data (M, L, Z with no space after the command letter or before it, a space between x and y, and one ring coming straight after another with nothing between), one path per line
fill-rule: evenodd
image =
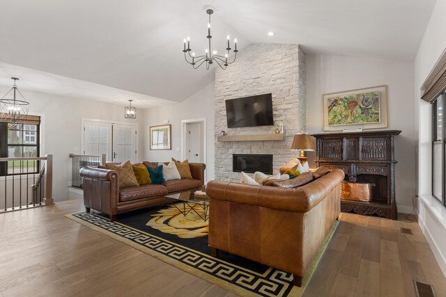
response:
M86 166L79 173L83 177L85 207L114 214L119 198L118 172Z

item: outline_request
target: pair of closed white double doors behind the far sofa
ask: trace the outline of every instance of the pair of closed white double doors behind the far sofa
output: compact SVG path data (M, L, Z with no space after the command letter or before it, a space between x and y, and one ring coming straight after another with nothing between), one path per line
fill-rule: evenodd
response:
M136 163L137 125L83 119L82 130L84 154L106 154L107 161Z

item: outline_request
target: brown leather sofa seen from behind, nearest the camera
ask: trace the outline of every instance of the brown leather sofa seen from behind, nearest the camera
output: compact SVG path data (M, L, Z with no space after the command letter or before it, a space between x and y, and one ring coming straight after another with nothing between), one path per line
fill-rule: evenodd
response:
M302 277L340 209L344 171L297 188L208 182L209 246Z

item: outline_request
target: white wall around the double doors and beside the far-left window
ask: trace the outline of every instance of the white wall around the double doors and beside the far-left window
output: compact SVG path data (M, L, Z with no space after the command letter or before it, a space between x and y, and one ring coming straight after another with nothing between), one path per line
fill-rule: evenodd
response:
M20 85L18 86L20 89ZM6 94L9 88L0 87L0 94ZM106 104L88 99L61 97L43 93L32 93L20 90L29 102L29 114L43 116L41 125L42 150L41 156L53 154L53 195L54 200L68 199L68 182L70 179L70 158L68 154L80 154L82 118L109 120L116 122L138 123L139 136L144 129L141 125L142 116L137 120L124 119L124 106ZM141 112L141 111L139 111ZM141 138L142 139L142 138ZM142 161L143 141L138 141L138 159ZM79 152L75 152L75 147Z

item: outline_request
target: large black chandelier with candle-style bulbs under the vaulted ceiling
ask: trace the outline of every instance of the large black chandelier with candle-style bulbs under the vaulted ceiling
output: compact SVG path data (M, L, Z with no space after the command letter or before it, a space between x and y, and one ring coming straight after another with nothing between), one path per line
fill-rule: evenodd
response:
M206 70L209 70L210 64L215 62L220 66L220 68L222 68L222 70L225 70L229 64L232 64L232 63L234 63L234 61L236 61L237 52L238 52L237 39L234 39L234 49L233 49L234 58L231 62L228 62L229 52L231 51L231 46L229 45L229 35L227 36L228 47L226 47L226 54L224 56L219 56L219 55L217 55L217 51L212 51L212 48L210 47L210 38L212 38L212 35L210 35L210 15L212 15L214 13L214 10L208 9L208 10L206 10L206 13L209 15L208 35L206 36L206 38L208 38L208 40L209 40L209 47L206 49L206 55L195 56L195 53L192 51L192 49L190 49L190 38L189 38L189 36L187 36L187 38L185 40L183 40L184 41L184 47L183 47L184 58L187 63L189 63L190 65L192 65L192 67L194 67L194 69L197 69L198 67L201 66L201 64L206 62ZM186 42L187 42L187 48L186 48ZM190 54L191 51L192 51L192 54Z

